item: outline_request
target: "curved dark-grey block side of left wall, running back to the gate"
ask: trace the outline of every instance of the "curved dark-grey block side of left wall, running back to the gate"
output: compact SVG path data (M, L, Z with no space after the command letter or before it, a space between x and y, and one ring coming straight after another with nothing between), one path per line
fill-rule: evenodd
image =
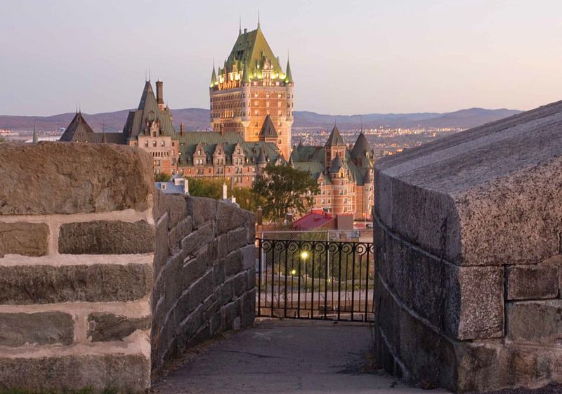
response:
M154 371L221 331L249 327L256 303L254 214L213 199L156 197Z

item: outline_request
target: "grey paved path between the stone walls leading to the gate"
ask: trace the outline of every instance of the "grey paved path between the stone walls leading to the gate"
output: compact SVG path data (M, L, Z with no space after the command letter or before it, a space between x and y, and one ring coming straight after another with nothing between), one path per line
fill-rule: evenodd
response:
M374 368L365 324L268 320L198 349L155 383L176 393L424 393ZM432 390L432 394L446 393Z

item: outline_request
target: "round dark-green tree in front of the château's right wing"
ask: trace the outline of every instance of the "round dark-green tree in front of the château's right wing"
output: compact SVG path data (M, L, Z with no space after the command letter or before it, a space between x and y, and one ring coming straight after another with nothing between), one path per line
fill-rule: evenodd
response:
M256 204L261 204L263 214L277 221L289 211L296 214L308 211L320 188L308 171L289 165L268 164L263 174L256 178L252 192Z

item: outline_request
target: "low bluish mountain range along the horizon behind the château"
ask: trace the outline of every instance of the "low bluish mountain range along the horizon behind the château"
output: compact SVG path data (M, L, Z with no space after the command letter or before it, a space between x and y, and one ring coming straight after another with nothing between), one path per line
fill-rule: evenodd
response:
M357 114L357 115L327 115L308 111L294 112L294 129L329 129L334 122L342 131L359 129L373 129L379 126L391 128L457 128L470 129L488 122L493 122L504 117L518 114L518 110L485 110L483 108L470 108L456 112L421 112L412 114ZM99 114L85 114L86 121L95 131L121 131L129 110L117 112L104 112ZM172 110L174 126L179 130L180 124L185 124L187 130L210 129L209 110L201 108L183 108ZM74 113L58 114L48 117L0 115L0 129L14 131L30 131L34 122L37 122L39 131L53 131L66 127L74 117Z

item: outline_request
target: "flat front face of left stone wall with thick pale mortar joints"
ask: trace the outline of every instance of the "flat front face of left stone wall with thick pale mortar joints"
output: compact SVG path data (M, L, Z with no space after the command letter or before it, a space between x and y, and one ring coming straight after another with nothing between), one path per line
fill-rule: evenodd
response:
M150 386L150 157L0 148L0 391Z

